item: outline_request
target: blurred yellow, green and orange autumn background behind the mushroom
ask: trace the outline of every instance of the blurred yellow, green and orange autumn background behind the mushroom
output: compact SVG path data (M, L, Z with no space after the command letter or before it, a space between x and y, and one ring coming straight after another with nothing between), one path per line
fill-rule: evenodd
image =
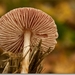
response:
M41 9L57 25L58 43L46 57L43 73L75 73L75 0L0 0L0 17L18 7Z

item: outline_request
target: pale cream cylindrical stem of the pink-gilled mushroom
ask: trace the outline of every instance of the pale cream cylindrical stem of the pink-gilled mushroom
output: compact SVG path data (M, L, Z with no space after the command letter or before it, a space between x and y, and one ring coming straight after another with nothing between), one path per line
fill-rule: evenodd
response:
M31 36L30 31L25 31L25 33L24 33L23 57L26 55L26 53L30 49L30 36ZM28 54L26 55L26 57L22 61L21 73L28 73L28 68L29 68L29 54L30 54L30 51L28 52Z

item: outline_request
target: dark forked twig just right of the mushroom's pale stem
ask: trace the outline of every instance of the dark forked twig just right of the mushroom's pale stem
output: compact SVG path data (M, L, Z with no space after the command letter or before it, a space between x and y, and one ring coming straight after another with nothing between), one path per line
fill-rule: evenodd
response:
M37 67L39 66L39 64L41 63L41 61L51 53L51 48L49 48L44 54L41 52L41 43L42 41L40 41L39 45L36 47L36 49L34 49L34 53L33 53L33 58L31 58L32 60L30 61L30 65L29 65L29 73L38 73L41 72L42 69L40 69L40 71L37 72Z

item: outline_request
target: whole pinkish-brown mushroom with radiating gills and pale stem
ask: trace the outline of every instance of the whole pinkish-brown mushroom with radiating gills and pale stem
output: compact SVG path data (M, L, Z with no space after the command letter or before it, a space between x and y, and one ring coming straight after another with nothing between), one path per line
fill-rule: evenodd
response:
M0 18L0 48L13 53L23 52L23 57L30 45L37 45L42 39L43 51L53 50L57 27L51 16L31 7L16 8ZM21 73L28 73L29 54L22 62Z

